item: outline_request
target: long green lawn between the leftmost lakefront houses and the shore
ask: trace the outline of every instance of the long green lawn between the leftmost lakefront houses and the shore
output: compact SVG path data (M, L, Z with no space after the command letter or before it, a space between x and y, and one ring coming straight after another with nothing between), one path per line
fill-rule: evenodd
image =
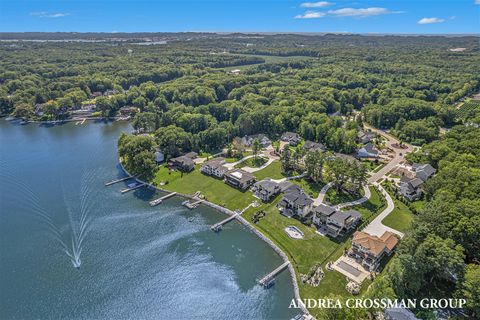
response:
M207 200L231 210L243 209L255 199L250 191L242 192L225 184L221 179L202 174L199 166L192 172L184 173L183 177L181 172L174 171L169 174L168 168L161 166L154 182L160 186L161 181L168 181L168 184L161 186L163 189L186 194L200 191Z

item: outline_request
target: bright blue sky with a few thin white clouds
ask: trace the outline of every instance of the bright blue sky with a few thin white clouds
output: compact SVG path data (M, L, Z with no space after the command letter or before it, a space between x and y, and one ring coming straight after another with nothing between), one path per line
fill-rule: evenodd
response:
M479 33L480 0L0 0L0 32Z

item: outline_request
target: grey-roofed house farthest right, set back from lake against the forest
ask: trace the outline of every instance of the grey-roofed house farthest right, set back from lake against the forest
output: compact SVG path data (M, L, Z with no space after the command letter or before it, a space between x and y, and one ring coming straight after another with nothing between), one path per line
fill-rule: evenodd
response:
M402 196L410 201L418 199L422 195L422 185L436 172L430 164L412 165L413 177L404 175L400 178L399 191Z

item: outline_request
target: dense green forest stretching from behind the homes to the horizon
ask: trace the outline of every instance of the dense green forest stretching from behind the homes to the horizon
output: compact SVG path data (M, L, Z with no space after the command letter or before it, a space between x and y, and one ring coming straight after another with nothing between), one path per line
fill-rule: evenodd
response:
M155 137L135 142L140 149L131 161L138 166L155 165L141 154L156 147L174 157L215 151L238 136L285 131L352 153L362 122L423 145L410 160L429 162L438 174L374 289L402 298L468 297L467 312L480 316L480 121L459 116L457 108L480 90L477 37L30 37L1 36L0 114L51 121L84 106L105 118L134 110L136 131ZM121 139L129 143L128 136Z

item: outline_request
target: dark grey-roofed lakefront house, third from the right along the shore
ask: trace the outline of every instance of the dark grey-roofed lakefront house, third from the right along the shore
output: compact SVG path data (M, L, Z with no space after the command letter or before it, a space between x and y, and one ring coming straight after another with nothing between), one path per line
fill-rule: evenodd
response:
M277 204L278 210L287 217L298 215L303 218L312 210L313 200L302 188L292 185L284 191L282 200Z

